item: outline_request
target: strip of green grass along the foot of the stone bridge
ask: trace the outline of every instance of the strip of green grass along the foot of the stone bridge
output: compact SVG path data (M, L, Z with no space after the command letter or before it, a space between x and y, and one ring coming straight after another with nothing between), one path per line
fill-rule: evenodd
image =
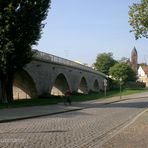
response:
M122 95L129 95L135 93L142 93L148 90L123 90ZM120 92L117 90L107 91L106 97L104 96L104 92L99 93L91 93L88 95L73 95L71 96L72 101L88 101L95 100L100 98L109 98L114 96L120 96ZM40 99L24 99L24 100L15 100L11 104L0 104L0 108L12 108L12 107L23 107L23 106L36 106L36 105L49 105L49 104L57 104L59 102L63 102L65 97L55 97L51 96L49 98L40 98Z

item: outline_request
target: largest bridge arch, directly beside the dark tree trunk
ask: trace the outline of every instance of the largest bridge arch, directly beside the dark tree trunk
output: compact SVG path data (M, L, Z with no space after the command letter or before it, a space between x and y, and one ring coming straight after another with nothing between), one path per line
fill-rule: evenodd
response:
M14 75L13 98L29 99L37 97L35 83L25 70L21 70Z

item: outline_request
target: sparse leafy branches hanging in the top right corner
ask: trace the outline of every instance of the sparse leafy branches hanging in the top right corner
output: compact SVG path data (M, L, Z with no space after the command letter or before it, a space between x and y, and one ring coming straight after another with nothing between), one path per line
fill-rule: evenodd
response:
M148 0L134 3L129 9L129 24L132 26L135 38L148 38Z

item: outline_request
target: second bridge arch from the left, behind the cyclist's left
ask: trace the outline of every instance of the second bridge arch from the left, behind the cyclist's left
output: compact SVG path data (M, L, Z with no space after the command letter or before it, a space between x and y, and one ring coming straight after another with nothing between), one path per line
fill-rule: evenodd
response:
M52 86L51 95L62 96L67 90L70 90L67 78L63 73L60 73Z

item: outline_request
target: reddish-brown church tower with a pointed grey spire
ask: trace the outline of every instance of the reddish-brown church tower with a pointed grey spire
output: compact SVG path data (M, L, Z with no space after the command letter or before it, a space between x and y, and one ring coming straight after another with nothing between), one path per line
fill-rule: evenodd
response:
M137 50L134 47L131 53L131 67L132 69L137 72L137 67L138 67L138 54Z

